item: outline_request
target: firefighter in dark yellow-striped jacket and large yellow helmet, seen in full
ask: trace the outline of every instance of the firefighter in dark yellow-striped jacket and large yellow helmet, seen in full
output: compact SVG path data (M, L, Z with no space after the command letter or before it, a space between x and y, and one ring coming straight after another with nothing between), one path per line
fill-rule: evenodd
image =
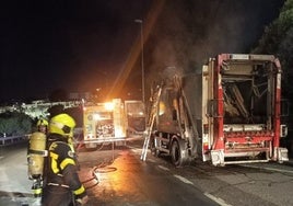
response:
M68 206L72 203L72 194L77 204L84 205L89 199L78 175L71 144L74 126L74 119L68 114L58 114L49 122L43 206Z

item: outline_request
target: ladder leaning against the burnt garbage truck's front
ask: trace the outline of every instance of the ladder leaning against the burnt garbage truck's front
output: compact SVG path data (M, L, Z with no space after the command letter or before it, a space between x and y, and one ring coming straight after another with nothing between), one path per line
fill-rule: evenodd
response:
M159 105L161 93L162 93L162 84L157 87L157 92L153 94L152 106L151 106L148 125L146 125L145 131L143 133L144 142L143 142L142 152L140 157L142 161L145 161L146 159L148 148L150 145L150 138L152 135L154 121L157 114L156 111L157 111L157 105Z

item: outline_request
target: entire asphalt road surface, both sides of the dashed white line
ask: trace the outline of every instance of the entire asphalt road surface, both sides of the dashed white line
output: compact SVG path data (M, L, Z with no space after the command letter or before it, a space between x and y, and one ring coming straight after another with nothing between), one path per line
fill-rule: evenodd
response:
M215 168L168 158L140 160L141 141L95 151L78 150L87 205L293 205L292 165L254 163ZM0 205L39 205L27 180L26 147L0 147Z

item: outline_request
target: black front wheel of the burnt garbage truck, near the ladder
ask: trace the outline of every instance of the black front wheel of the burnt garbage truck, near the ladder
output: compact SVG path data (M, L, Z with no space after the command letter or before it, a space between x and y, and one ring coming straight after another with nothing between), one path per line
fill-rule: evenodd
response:
M175 139L171 146L171 160L175 167L186 165L190 161L187 152L185 151L185 141Z

